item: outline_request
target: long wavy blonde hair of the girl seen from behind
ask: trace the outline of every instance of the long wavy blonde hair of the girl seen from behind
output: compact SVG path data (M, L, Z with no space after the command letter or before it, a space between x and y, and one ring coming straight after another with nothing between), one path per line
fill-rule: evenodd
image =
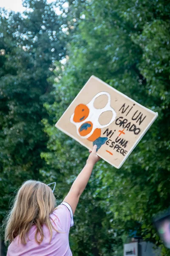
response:
M37 227L35 240L41 243L44 238L42 225L46 224L52 238L49 215L56 207L56 199L49 186L35 180L28 180L20 187L14 199L13 207L6 218L5 241L14 241L19 236L22 244L26 244L26 235L33 225ZM57 230L56 230L57 231ZM40 234L40 239L37 235Z

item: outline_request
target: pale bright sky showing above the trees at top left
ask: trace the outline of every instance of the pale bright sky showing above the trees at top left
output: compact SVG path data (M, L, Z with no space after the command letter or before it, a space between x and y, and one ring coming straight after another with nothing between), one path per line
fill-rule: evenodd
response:
M48 0L48 3L54 2L54 0ZM23 12L25 8L22 6L22 0L0 0L0 7L10 9L14 12Z

